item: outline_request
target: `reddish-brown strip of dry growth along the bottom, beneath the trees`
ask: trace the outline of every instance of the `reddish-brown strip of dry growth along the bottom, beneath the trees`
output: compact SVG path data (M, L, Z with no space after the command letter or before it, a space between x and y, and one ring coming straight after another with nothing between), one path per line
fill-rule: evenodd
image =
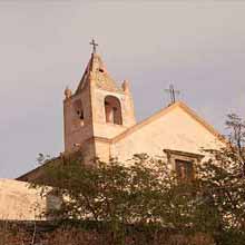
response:
M158 232L145 231L144 227L133 227L126 231L125 237L115 235L106 227L87 222L80 225L57 226L50 223L0 223L0 245L214 245L213 239L205 234L184 235L170 229Z

